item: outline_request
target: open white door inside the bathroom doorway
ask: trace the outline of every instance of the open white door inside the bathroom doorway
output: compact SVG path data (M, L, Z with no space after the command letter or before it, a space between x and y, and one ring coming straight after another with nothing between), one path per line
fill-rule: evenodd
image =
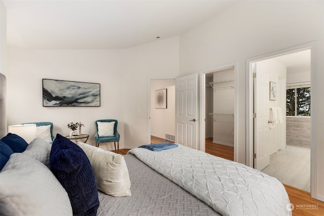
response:
M253 66L254 78L254 168L262 170L270 163L269 155L269 77Z

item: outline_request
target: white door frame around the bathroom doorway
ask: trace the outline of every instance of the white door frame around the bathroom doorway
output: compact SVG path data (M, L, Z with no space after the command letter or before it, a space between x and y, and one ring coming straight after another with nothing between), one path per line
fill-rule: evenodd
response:
M316 42L310 42L308 44L303 44L303 45L300 45L300 46L295 46L295 47L292 47L292 48L287 48L287 49L284 49L284 50L280 50L280 51L276 51L276 52L273 52L273 53L269 53L269 54L264 54L264 55L261 55L261 56L258 56L258 57L254 57L254 58L251 58L251 59L247 59L247 71L249 71L249 75L248 75L248 80L247 80L247 87L248 87L248 96L247 96L247 101L248 101L248 107L247 107L247 110L248 110L248 118L247 118L247 165L249 166L254 166L254 162L255 162L255 158L258 158L260 157L260 155L257 155L259 153L259 151L255 151L256 149L256 144L258 143L258 141L256 140L256 137L254 137L254 128L255 128L255 125L254 125L254 116L258 116L258 113L254 114L255 113L255 110L253 109L253 82L252 80L253 79L253 65L255 62L258 62L258 61L262 61L262 60L266 60L266 59L272 59L274 57L279 57L279 56L284 56L286 54L293 54L293 53L297 53L297 52L300 52L300 51L306 51L306 50L309 50L310 51L310 54L311 54L311 59L310 59L310 65L311 65L311 72L310 72L310 80L311 82L313 83L313 80L315 79L315 68L316 68L316 62L315 62L315 59L316 59L316 53L315 53L315 48L316 48ZM258 75L257 75L258 76ZM270 80L269 80L270 81ZM278 82L281 82L282 80L279 80L278 79ZM315 87L313 87L315 88ZM313 92L312 94L312 98L311 98L311 101L314 100L315 98L315 95L316 92ZM314 102L314 101L313 101ZM312 104L313 102L311 102L310 104L310 109L312 109ZM286 109L284 110L284 113L286 113ZM285 115L286 116L286 115ZM310 128L312 128L313 126L313 120L312 119L315 119L315 116L316 116L316 109L312 109L312 115L310 116ZM287 134L288 135L288 134ZM315 133L314 131L311 129L310 131L310 137L314 137ZM288 139L287 139L288 140ZM278 145L277 145L278 146ZM311 143L310 143L310 192L311 192L311 196L312 197L316 197L316 143L314 141L314 139L311 139ZM275 153L276 154L276 153ZM294 169L295 167L294 164L290 163L291 167L290 169ZM309 166L309 164L308 164Z

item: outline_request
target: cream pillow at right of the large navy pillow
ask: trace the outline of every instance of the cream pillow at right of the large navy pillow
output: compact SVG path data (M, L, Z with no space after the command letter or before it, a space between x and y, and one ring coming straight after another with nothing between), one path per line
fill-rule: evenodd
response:
M131 181L123 155L77 142L89 158L97 188L111 196L131 196Z

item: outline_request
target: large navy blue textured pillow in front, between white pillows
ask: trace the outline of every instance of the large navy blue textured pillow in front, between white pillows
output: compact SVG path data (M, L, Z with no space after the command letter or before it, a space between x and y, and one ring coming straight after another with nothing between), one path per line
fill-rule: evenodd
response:
M73 215L96 216L99 207L98 189L85 152L57 134L50 153L50 167L70 198Z

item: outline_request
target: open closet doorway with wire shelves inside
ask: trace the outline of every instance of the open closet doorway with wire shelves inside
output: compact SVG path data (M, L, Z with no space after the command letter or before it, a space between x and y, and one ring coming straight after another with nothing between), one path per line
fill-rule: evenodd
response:
M204 98L201 119L205 125L200 142L205 152L235 160L235 66L223 66L201 73Z

